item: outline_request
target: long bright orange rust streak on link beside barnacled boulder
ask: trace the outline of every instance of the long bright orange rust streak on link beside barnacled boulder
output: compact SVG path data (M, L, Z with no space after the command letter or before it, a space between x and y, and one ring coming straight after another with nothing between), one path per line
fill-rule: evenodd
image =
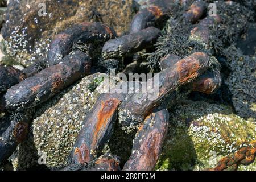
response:
M101 102L101 109L97 115L97 123L96 127L93 130L93 141L92 146L96 147L98 136L101 131L106 127L109 118L113 116L117 107L119 105L120 100L117 98L110 98L109 100Z

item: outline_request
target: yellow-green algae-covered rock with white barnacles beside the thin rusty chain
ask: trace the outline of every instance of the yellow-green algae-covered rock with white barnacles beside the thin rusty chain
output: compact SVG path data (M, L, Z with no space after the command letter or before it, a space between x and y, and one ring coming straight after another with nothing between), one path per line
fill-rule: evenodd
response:
M256 122L229 106L184 101L170 113L168 136L155 169L202 170L255 140ZM256 163L239 169L256 169Z

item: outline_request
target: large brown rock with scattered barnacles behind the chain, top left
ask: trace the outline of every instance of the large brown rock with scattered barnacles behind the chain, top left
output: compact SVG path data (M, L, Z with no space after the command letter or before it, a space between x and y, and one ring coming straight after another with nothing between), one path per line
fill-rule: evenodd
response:
M39 3L45 3L46 16L39 16L44 13ZM44 59L52 37L73 24L104 22L123 34L132 14L132 0L10 1L1 32L7 53L27 66Z

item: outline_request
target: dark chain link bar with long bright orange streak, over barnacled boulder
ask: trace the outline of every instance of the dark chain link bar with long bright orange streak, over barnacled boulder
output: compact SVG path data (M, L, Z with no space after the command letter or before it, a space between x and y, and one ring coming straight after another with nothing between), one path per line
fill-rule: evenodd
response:
M102 94L86 116L72 151L72 161L84 164L95 158L97 150L108 141L117 119L123 94Z

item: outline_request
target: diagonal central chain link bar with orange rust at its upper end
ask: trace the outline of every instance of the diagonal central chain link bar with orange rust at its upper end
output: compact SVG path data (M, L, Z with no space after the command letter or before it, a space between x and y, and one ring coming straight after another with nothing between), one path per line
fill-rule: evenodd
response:
M164 96L174 92L179 86L194 81L209 68L209 56L205 53L195 52L192 55L181 59L172 67L164 69L159 73L159 93L156 94L129 94L122 102L121 110L126 110L135 118L142 120L152 109L160 104ZM147 82L154 83L155 78Z

